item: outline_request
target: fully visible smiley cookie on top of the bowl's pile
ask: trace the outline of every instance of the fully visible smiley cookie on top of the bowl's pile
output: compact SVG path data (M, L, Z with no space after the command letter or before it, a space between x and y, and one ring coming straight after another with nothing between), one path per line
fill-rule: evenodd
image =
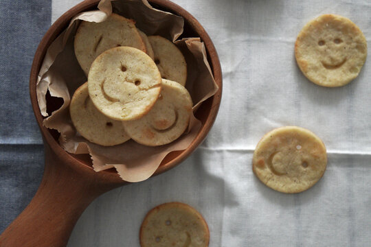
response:
M91 64L88 89L101 113L116 120L133 120L155 104L161 91L161 75L143 51L115 47Z

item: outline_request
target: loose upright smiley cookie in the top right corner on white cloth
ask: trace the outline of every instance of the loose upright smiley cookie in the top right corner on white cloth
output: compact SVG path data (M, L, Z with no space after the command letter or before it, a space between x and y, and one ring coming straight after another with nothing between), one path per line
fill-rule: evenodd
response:
M355 79L367 56L366 38L349 19L324 14L307 23L295 43L306 78L319 86L344 86Z

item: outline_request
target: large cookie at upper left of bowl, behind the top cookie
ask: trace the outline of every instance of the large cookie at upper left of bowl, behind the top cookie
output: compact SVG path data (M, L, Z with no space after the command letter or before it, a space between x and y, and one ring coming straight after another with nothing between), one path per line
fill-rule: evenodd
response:
M118 46L135 47L146 51L135 22L118 14L111 14L101 23L82 21L75 36L76 58L87 75L93 61L103 51Z

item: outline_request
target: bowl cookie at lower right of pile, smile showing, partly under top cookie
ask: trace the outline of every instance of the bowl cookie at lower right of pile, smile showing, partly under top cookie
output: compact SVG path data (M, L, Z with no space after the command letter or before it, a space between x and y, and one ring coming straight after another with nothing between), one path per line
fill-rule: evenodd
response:
M177 139L188 127L192 99L177 82L162 79L161 94L155 106L144 117L123 122L128 135L137 143L165 145Z

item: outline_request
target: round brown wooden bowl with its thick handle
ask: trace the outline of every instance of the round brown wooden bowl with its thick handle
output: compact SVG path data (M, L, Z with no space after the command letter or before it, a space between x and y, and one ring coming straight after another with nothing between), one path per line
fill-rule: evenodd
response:
M38 45L30 73L32 108L45 144L45 171L36 195L26 209L0 235L0 246L66 246L78 217L100 194L126 183L113 170L95 172L88 155L71 155L60 147L58 133L43 126L43 116L36 98L36 80L49 45L61 33L72 17L79 12L97 7L98 0L88 0L76 5L49 28ZM154 175L166 172L187 158L205 139L218 113L221 103L222 74L216 49L201 24L183 8L168 0L150 0L151 5L183 16L184 36L200 37L207 50L218 92L207 99L196 112L202 127L190 146L183 151L171 152ZM58 102L59 100L59 102ZM49 97L47 107L54 108L60 99Z

